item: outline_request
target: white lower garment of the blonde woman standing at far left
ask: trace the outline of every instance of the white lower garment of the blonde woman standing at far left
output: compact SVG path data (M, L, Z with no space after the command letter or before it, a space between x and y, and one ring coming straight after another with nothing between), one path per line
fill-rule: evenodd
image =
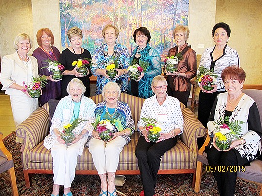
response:
M38 99L24 95L10 95L10 103L16 127L38 108Z

